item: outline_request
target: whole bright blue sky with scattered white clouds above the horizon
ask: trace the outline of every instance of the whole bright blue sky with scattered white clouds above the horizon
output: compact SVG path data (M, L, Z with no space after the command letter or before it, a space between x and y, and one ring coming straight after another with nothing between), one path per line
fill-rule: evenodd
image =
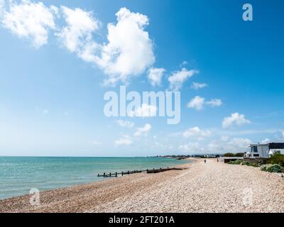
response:
M0 155L224 153L283 141L284 3L249 1L253 21L243 21L245 3L0 0ZM158 86L151 68L163 69ZM165 91L182 68L178 125L104 116L105 92Z

